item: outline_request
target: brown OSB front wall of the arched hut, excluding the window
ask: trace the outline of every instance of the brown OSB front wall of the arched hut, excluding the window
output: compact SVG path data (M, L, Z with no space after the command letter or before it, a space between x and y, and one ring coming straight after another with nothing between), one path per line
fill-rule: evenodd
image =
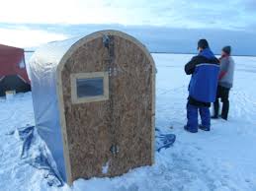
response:
M153 68L128 39L114 36L114 47L117 73L110 76L109 100L71 103L71 73L108 71L109 51L102 37L80 46L61 73L72 180L121 175L152 164ZM113 145L119 148L117 155L110 152ZM103 166L109 166L105 173Z

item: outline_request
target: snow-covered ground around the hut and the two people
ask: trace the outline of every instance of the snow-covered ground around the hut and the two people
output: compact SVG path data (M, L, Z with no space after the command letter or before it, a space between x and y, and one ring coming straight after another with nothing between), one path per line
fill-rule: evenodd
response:
M175 145L155 154L155 164L116 178L79 179L73 187L48 187L44 171L20 159L22 142L8 135L34 124L31 94L0 98L1 191L255 191L256 190L256 57L235 57L235 86L230 94L229 121L213 121L211 132L189 134L186 98L189 77L184 64L192 55L154 54L156 127L177 135Z

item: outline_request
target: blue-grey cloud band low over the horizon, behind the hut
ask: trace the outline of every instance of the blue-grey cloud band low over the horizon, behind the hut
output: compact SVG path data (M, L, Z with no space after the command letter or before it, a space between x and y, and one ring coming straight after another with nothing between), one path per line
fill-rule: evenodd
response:
M256 55L254 32L221 29L174 29L122 25L0 24L0 43L31 49L32 46L35 47L48 41L85 36L106 29L127 32L139 39L153 52L195 53L198 39L207 38L215 53L219 52L223 45L228 44L233 47L234 54Z

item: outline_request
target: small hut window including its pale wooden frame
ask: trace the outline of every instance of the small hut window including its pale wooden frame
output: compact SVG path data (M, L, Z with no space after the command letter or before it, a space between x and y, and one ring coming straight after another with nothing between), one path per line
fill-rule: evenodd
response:
M71 74L71 86L73 103L109 98L109 76L106 72Z

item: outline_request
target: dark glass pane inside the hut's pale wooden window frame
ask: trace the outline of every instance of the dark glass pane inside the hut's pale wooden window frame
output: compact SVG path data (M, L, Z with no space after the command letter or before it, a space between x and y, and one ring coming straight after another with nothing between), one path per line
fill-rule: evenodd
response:
M104 96L104 78L76 79L77 97Z

